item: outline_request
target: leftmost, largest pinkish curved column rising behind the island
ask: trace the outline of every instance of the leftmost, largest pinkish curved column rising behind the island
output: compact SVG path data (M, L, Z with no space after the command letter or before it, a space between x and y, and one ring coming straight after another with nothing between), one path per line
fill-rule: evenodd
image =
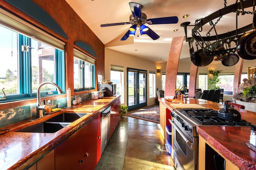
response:
M172 44L166 65L164 96L175 96L176 78L183 41L184 37L172 38Z

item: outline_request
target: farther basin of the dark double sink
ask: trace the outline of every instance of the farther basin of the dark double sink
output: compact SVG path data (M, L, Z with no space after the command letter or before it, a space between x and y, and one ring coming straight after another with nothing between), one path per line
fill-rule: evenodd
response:
M61 113L59 115L56 115L46 120L46 122L70 122L71 123L86 114L87 113Z

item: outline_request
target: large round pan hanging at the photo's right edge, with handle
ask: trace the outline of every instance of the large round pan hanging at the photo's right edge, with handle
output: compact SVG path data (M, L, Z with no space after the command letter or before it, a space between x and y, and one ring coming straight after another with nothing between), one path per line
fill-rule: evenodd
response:
M255 7L254 7L255 8ZM245 60L256 59L256 14L253 14L253 31L248 32L238 40L236 51L238 55Z

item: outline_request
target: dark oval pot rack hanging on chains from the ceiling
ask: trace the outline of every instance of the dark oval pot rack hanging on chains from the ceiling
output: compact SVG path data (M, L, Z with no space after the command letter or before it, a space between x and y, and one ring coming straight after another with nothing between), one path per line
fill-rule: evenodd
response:
M253 3L254 0L236 0L235 4L232 4L230 6L226 6L226 0L224 0L224 8L210 14L209 16L196 20L195 25L190 25L190 22L184 22L181 23L180 26L184 27L185 30L185 36L186 41L189 43L189 47L193 47L193 43L196 45L197 50L202 49L204 52L204 55L214 55L218 58L218 60L222 60L224 56L227 56L228 54L234 54L236 52L236 47L231 48L230 43L234 42L237 44L238 40L242 35L246 32L252 29L252 23L249 25L246 25L241 28L237 28L237 17L241 13L244 14L254 14L254 12L245 12L244 8L249 8L254 6ZM215 25L220 21L222 16L229 14L231 12L236 13L236 29L233 31L228 31L227 33L217 34ZM212 20L218 18L218 20L215 22L215 24L212 22ZM203 26L205 24L209 23L212 28L208 31L206 36L202 36L200 32L203 30ZM187 27L188 26L194 26L192 29L192 37L187 37ZM210 32L214 29L216 35L210 35ZM222 47L218 49L219 47ZM214 50L218 49L218 50ZM220 57L221 56L221 57Z

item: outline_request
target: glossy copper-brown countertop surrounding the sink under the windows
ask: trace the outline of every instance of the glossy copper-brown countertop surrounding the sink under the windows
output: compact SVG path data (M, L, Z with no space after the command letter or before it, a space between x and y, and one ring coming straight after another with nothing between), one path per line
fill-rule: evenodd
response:
M10 129L10 132L0 135L0 170L24 169L33 162L37 162L45 154L53 150L58 143L80 129L106 107L110 106L117 98L120 98L120 96L86 100L71 109L62 109L61 111L57 111L56 113L34 121L22 121L1 128L0 130ZM45 121L63 112L87 114L56 133L15 132L24 127Z

